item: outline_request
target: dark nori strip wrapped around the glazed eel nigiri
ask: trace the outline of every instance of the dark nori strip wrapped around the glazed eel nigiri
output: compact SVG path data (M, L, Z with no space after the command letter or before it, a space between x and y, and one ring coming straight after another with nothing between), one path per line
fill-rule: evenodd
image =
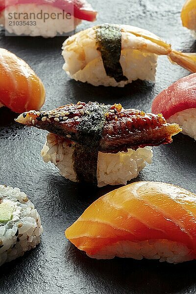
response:
M73 151L73 170L78 182L93 183L97 186L98 149L105 122L105 113L110 105L89 102L85 116L79 126L77 143Z

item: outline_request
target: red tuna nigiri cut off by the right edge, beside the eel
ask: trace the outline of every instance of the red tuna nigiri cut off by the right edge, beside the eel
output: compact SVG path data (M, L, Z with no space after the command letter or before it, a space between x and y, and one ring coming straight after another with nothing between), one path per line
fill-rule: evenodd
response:
M163 90L152 102L168 123L178 123L182 133L196 140L196 73L185 76Z

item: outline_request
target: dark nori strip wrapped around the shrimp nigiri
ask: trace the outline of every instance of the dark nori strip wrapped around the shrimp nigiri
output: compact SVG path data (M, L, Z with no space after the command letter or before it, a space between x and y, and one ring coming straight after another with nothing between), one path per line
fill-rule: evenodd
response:
M116 82L127 81L120 64L122 32L119 25L104 24L96 27L98 50L101 52L107 75Z

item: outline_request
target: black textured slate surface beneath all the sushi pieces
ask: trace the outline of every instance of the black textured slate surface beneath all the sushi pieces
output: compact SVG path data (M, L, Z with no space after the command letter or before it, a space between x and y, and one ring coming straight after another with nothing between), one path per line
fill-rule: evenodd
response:
M174 49L196 51L196 43L181 26L183 0L91 0L99 11L97 23L124 23L146 28ZM89 27L83 22L77 30ZM16 53L42 78L53 109L78 100L120 102L149 111L152 99L188 72L159 57L156 83L136 81L122 88L93 87L70 80L62 70L61 45L53 39L0 36L0 47ZM0 110L0 183L26 192L38 209L43 227L41 245L23 258L0 268L0 294L187 294L196 293L196 262L178 265L120 259L97 261L64 237L64 230L95 199L117 187L92 189L64 179L40 157L45 131L13 123ZM196 142L182 134L168 146L153 148L153 163L136 180L165 181L196 192Z

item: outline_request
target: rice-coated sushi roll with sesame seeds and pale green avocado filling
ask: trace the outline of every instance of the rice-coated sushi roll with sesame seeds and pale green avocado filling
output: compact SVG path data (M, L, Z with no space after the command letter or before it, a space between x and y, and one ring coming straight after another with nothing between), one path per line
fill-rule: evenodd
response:
M26 194L0 185L0 266L35 248L42 232L40 216Z

